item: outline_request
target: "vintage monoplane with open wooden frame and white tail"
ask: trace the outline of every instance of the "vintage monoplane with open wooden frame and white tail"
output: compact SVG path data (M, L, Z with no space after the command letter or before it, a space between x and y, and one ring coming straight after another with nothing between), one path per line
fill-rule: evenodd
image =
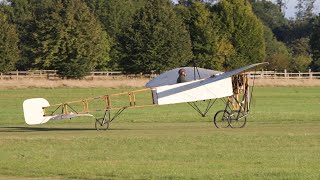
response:
M90 113L102 111L103 117L95 118L95 127L97 130L106 130L109 128L109 123L128 108L188 103L204 117L216 100L221 99L225 103L225 108L214 115L214 125L217 128L242 128L249 115L254 87L252 83L250 90L249 79L245 72L264 64L266 63L252 64L225 73L184 67L187 74L193 74L193 77L187 76L187 82L183 83L177 83L177 75L181 68L176 68L149 81L145 89L55 105L50 105L43 98L27 99L23 102L24 118L27 124L35 125L49 120L94 117ZM150 101L145 101L146 96ZM205 110L200 110L197 101L207 101Z

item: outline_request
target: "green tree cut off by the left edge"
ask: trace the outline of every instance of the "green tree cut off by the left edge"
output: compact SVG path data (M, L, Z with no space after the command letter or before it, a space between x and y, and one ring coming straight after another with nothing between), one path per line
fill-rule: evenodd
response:
M15 25L0 11L0 72L15 69L19 59L18 34Z

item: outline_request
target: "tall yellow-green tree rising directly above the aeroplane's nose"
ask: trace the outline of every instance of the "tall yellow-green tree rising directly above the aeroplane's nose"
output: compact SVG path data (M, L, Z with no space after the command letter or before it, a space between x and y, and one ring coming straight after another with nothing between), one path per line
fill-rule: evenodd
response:
M228 66L236 68L265 58L263 24L254 15L250 3L244 0L221 0L213 7L221 20L220 35L235 49Z

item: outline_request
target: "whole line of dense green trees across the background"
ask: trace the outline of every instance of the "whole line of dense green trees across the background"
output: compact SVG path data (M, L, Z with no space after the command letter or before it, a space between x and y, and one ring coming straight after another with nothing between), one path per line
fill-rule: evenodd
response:
M161 73L179 66L320 71L314 0L286 19L266 0L6 0L0 2L0 72L54 69Z

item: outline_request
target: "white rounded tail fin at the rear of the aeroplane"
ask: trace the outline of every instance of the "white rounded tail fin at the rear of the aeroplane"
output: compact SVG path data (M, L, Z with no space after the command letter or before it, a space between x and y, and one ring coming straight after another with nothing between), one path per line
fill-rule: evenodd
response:
M24 120L27 124L43 124L50 120L51 116L44 116L43 107L50 106L43 98L27 99L23 102Z

